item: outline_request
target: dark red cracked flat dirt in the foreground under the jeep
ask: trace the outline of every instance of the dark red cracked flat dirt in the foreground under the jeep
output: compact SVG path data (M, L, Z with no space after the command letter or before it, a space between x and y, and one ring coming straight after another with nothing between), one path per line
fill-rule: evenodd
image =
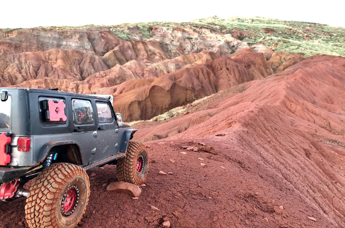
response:
M224 139L202 139L206 145L217 145L217 155L180 148L200 147L199 141L149 143L150 173L138 200L102 186L117 180L115 166L92 170L89 174L96 176L90 177L89 206L79 226L159 227L164 220L171 227L333 226L316 208L301 202L298 193L286 190L286 183L272 170L240 162L242 155L231 153L232 146ZM173 174L159 175L160 170ZM0 227L27 227L24 204L24 199L2 204ZM160 211L151 210L151 205Z

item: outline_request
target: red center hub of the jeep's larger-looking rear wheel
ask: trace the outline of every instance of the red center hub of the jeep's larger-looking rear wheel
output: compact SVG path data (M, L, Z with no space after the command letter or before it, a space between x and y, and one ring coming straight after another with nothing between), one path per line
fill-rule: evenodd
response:
M72 185L67 189L61 200L61 213L63 216L70 216L77 208L79 202L79 188Z

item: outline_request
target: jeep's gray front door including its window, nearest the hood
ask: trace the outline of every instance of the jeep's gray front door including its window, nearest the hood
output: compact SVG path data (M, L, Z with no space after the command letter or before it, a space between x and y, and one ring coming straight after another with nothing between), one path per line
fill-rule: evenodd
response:
M118 125L110 102L95 100L97 108L97 149L101 159L118 153Z

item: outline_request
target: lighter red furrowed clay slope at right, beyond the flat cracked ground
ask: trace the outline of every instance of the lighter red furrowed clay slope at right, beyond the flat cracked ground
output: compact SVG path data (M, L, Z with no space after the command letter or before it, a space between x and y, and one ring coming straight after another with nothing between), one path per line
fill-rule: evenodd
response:
M141 128L138 136L208 141L267 186L308 205L308 211L294 206L301 221L318 216L344 227L344 91L345 59L314 56L283 74L248 83L243 93L229 94L206 110ZM285 200L286 207L293 205Z

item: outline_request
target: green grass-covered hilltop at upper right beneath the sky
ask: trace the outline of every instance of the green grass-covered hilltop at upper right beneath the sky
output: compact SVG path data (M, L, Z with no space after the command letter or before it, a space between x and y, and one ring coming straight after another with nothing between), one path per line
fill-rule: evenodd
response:
M211 17L191 22L147 22L137 24L120 24L111 30L121 38L129 40L129 28L135 27L145 38L153 36L153 26L184 28L195 30L209 29L214 33L234 34L236 38L249 44L262 43L275 51L304 53L306 56L315 54L345 56L345 28L332 27L325 24L282 21L271 18L231 17L221 19Z

